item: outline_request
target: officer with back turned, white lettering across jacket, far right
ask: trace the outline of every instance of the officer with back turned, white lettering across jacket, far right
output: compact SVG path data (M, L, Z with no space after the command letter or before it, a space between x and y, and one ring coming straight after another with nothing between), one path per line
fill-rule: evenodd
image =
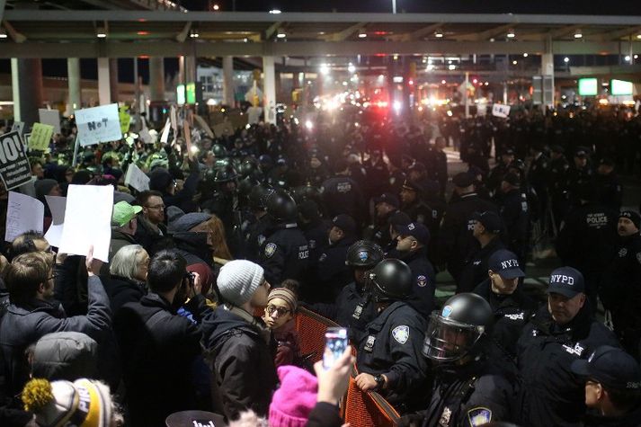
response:
M616 211L593 202L589 182L576 187L580 205L570 211L556 237L556 254L565 265L583 273L592 310L597 307L597 289L614 258L617 245Z

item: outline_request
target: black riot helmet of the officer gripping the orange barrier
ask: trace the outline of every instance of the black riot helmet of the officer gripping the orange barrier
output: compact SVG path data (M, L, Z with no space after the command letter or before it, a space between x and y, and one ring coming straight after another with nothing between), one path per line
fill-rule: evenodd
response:
M412 295L412 270L401 260L389 258L378 262L369 272L375 302L402 301Z

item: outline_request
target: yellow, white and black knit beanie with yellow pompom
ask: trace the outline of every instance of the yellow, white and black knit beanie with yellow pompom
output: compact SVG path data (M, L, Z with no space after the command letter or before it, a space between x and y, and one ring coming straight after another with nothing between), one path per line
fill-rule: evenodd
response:
M31 379L22 390L22 403L43 427L67 423L83 427L111 425L109 387L93 379L80 378L73 383Z

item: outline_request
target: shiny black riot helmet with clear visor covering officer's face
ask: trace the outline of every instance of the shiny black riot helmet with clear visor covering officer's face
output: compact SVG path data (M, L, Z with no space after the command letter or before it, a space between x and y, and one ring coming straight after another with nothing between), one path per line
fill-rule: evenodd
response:
M427 326L423 355L437 362L454 362L481 351L492 325L493 312L484 298L461 293L433 311Z

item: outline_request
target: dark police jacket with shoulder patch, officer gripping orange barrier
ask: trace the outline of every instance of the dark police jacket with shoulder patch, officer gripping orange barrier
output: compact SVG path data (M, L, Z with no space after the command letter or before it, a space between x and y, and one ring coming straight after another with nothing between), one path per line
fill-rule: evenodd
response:
M412 402L426 378L421 354L426 322L414 308L396 301L365 327L358 342L356 367L371 375L385 374L387 387L378 390L392 405Z

